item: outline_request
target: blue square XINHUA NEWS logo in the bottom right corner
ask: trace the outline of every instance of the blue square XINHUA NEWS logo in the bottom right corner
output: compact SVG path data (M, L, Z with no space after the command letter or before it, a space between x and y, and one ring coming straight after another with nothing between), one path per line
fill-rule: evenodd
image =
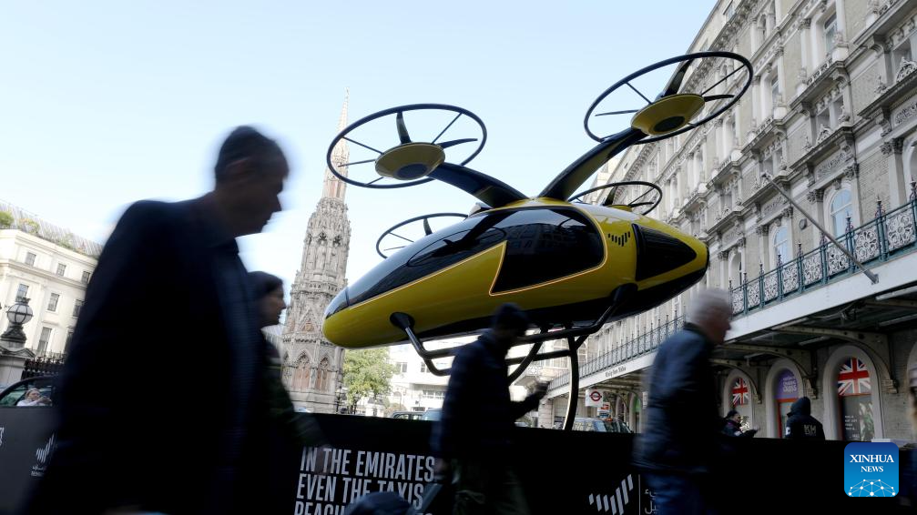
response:
M898 494L898 445L856 442L844 448L847 497L894 497Z

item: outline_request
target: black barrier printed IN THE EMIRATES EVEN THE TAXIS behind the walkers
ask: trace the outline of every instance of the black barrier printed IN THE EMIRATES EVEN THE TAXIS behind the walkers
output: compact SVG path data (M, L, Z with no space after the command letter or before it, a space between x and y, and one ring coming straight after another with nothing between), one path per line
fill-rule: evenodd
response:
M314 416L326 445L291 449L289 463L274 476L288 478L262 513L339 515L349 503L379 491L397 492L419 506L433 478L433 425L348 415ZM16 507L54 453L53 411L0 408L0 514ZM722 513L819 513L863 509L844 490L845 442L734 438L711 456L718 473L707 478L707 495ZM652 515L653 492L630 464L633 435L516 428L515 468L533 514ZM901 453L901 470L910 470ZM186 466L186 464L176 464ZM283 479L282 479L283 480ZM902 477L902 483L904 478ZM902 488L903 488L902 484ZM776 495L792 490L800 496ZM279 501L279 502L276 502ZM450 513L453 491L442 488L426 510ZM850 504L856 504L854 505ZM894 512L898 499L871 499L875 512ZM268 507L267 505L271 506Z

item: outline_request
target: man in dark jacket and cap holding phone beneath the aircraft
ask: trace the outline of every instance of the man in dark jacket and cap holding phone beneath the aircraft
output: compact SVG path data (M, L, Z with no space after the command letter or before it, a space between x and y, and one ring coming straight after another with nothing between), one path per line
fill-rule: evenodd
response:
M522 402L510 400L506 353L525 334L528 319L515 304L503 304L492 327L465 345L452 362L442 419L433 433L437 469L450 466L456 484L453 513L528 513L513 467L514 422L537 408L546 385Z

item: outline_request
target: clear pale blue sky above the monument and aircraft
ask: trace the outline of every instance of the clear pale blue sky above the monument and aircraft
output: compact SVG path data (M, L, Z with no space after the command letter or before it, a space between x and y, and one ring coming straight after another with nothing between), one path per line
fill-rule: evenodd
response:
M541 190L591 147L586 108L631 71L684 53L713 2L14 2L0 15L0 199L99 242L127 204L212 185L228 129L278 137L286 211L241 242L289 281L321 193L346 87L350 120L456 104L489 141L470 166ZM652 92L657 93L657 92ZM625 120L624 120L625 121ZM623 126L622 126L623 128ZM444 185L348 187L348 278L401 220L468 212Z

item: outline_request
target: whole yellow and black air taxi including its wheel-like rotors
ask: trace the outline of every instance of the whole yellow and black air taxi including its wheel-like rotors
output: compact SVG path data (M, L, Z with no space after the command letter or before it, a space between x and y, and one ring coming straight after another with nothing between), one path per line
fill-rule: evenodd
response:
M707 95L717 87L714 84L701 93L679 92L691 63L705 59L738 61L742 68L736 71L747 71L741 91ZM635 113L630 127L607 137L592 133L590 116L609 93L624 84L634 89L629 81L672 63L678 63L679 69L656 101L640 93L647 102L642 109L600 114ZM713 51L660 61L625 77L602 93L586 114L586 131L599 144L534 197L466 168L464 164L471 158L460 164L446 161L444 148L477 139L437 145L438 136L429 143L409 137L405 112L439 109L476 120L483 131L482 146L486 129L480 118L461 108L406 105L348 126L333 140L326 159L329 170L342 181L367 187L400 187L373 185L380 181L378 178L369 183L354 181L347 170L337 170L340 163L333 159L334 148L341 139L357 143L348 137L351 130L382 116L396 115L400 145L382 152L358 143L380 154L375 159L376 172L384 178L412 183L433 179L447 182L475 196L482 209L436 232L425 224L426 236L401 248L340 291L326 309L323 331L327 339L350 348L410 339L419 352L424 352L418 346L418 338L442 339L480 331L489 326L491 314L499 305L514 302L542 331L541 338L532 341L543 341L555 328L567 329L568 334L578 331L577 327L581 328L578 334L594 332L601 323L646 311L691 287L706 272L708 249L697 238L644 215L661 200L662 192L656 185L640 183L658 192L653 202L638 203L644 197L641 195L624 204L616 191L609 192L601 205L571 201L578 198L574 192L595 170L625 148L692 130L723 113L746 92L751 76L751 63L744 57ZM691 87L698 85L691 80L688 83ZM699 116L707 103L717 104L711 104L711 109ZM589 192L608 186L617 188L615 184ZM644 214L635 211L646 204L652 207Z

